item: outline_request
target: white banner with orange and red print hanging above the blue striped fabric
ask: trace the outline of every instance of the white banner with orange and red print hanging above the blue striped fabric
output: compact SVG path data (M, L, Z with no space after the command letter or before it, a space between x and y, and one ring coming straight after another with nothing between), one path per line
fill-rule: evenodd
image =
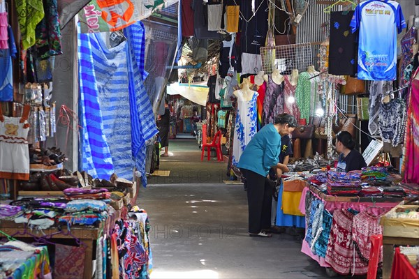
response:
M78 13L82 33L112 32L143 20L178 0L91 0Z

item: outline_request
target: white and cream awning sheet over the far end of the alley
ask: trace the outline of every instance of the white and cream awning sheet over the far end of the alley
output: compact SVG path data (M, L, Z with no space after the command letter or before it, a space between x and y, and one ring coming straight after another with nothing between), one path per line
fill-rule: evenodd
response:
M168 95L180 95L193 103L203 106L207 104L208 91L210 89L206 85L174 83L167 86Z

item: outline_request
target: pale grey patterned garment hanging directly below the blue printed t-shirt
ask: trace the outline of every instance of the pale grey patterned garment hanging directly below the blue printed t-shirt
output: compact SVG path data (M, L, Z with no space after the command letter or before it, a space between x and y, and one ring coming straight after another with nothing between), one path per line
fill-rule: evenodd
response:
M378 133L378 116L380 114L383 93L392 90L392 82L371 82L369 86L368 130L371 135Z

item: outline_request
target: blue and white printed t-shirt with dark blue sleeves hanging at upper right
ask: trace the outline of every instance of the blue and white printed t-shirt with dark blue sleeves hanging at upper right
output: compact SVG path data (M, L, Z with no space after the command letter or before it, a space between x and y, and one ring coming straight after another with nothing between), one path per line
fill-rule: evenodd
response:
M399 3L369 0L353 13L351 31L360 29L358 44L359 80L395 80L397 33L406 28Z

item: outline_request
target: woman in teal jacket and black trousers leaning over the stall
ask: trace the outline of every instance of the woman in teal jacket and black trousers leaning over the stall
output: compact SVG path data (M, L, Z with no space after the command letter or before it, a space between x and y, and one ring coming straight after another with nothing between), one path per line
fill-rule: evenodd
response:
M271 167L288 172L286 165L279 163L281 137L290 135L297 126L297 120L290 114L280 114L274 123L265 125L251 139L240 156L240 168L247 186L249 204L249 235L270 237L263 229L270 229L272 189L265 184Z

